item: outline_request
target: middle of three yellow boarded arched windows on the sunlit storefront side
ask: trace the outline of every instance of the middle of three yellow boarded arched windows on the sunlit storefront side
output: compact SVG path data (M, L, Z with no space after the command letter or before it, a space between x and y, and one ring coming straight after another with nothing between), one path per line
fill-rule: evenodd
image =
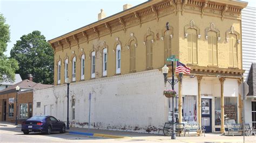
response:
M208 32L208 63L212 66L218 65L218 37L214 31Z

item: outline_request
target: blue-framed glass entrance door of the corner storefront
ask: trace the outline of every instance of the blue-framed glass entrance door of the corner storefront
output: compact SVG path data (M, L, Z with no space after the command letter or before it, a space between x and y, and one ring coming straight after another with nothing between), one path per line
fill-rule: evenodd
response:
M205 127L206 133L212 132L212 99L201 99L201 126Z

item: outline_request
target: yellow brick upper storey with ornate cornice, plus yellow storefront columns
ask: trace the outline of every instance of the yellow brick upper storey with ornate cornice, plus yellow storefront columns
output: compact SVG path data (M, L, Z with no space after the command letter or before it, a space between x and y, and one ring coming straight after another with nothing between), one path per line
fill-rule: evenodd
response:
M198 118L203 78L211 83L218 80L224 120L224 81L232 79L238 84L244 72L241 9L246 5L227 0L148 1L61 35L49 40L55 50L54 84L64 84L65 78L77 83L160 69L170 66L167 57L176 55L197 76L193 84L197 87ZM186 83L183 89L180 85L180 98L186 88ZM213 94L208 96L214 98ZM239 122L241 104L238 108L235 120ZM224 121L216 126L224 132Z

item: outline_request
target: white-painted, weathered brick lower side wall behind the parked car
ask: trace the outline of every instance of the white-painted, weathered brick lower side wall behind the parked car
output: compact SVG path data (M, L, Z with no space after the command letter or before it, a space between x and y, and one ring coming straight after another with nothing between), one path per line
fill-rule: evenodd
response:
M49 108L46 114L66 121L66 88L59 85L35 90L33 115L44 115L46 105ZM167 121L164 88L164 77L159 70L71 83L71 126L88 127L89 93L92 92L91 127L156 133ZM72 97L76 99L75 120L72 120ZM36 108L36 102L41 102L41 108Z

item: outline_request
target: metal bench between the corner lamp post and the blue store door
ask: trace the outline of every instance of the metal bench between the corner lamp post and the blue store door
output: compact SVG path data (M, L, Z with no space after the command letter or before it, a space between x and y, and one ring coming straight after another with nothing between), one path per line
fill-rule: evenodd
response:
M204 133L204 137L205 137L205 128L204 127L201 128L198 123L185 124L184 137L185 137L186 132L188 133L189 137L190 137L190 132L199 133L198 136L200 136L201 133Z

